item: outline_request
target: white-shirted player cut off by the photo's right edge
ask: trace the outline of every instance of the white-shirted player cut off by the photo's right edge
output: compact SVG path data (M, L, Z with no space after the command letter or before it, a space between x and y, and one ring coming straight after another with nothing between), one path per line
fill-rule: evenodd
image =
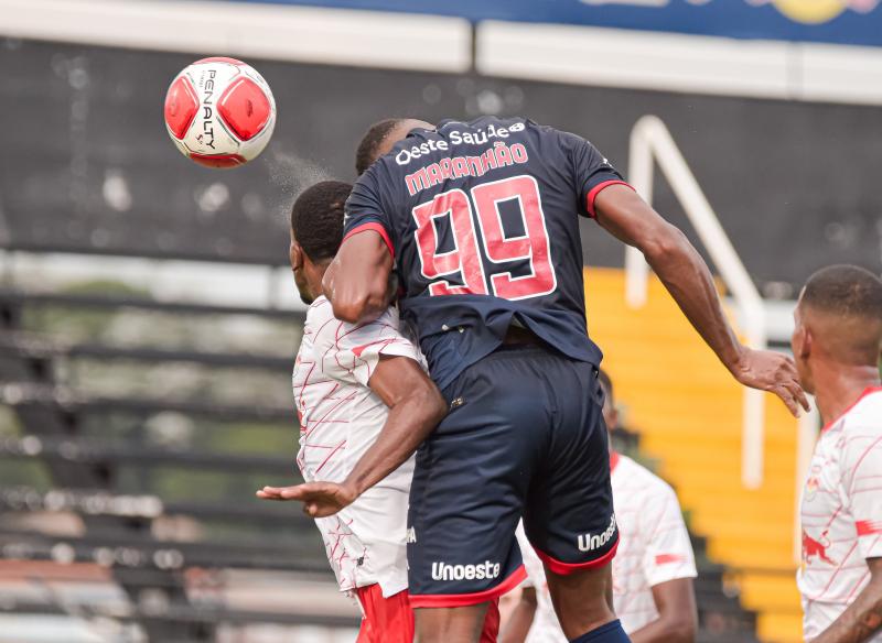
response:
M882 282L819 271L796 308L793 349L826 421L803 490L803 630L815 643L882 643Z

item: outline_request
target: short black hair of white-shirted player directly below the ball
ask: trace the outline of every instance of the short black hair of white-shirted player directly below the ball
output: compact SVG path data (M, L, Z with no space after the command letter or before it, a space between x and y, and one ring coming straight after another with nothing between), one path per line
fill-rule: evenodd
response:
M291 208L291 231L312 261L331 259L343 242L343 206L352 185L322 181L308 187Z

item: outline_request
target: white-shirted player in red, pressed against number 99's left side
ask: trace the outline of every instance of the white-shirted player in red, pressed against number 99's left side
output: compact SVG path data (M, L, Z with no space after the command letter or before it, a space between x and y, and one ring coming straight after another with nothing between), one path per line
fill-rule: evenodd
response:
M365 614L358 643L411 643L406 540L413 464L400 456L416 450L447 404L419 349L399 330L394 308L356 326L335 319L322 295L351 188L319 183L291 214L294 281L304 302L312 302L293 373L301 427L297 460L306 483L265 487L258 497L304 501L340 589L355 596ZM388 465L401 460L398 468ZM311 493L329 490L333 511L311 500Z

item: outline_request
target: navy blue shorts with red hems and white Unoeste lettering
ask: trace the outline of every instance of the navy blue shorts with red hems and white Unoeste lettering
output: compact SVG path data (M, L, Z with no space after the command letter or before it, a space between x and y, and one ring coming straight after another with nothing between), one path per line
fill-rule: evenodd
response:
M521 517L552 573L609 563L619 531L596 368L503 347L443 394L450 414L417 451L410 490L411 604L476 604L516 587Z

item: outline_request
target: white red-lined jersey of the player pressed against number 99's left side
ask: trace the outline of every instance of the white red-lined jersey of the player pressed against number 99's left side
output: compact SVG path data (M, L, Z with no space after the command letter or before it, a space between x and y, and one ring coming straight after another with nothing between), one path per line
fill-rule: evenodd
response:
M297 462L308 482L341 482L373 445L388 408L368 388L380 356L424 360L399 330L398 312L346 324L319 297L306 312L293 373L300 417ZM384 597L407 589L407 508L413 458L336 515L315 521L342 591L379 584Z

